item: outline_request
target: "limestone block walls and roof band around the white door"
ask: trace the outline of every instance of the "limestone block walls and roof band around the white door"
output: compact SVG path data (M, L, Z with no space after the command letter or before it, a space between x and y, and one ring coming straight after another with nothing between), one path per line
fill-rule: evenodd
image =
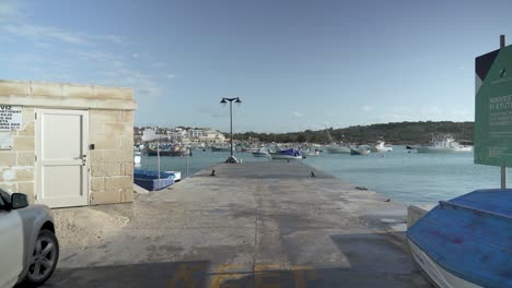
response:
M22 130L13 147L0 149L0 188L36 203L35 112L38 108L89 111L89 203L133 200L133 91L66 83L0 80L0 105L22 106Z

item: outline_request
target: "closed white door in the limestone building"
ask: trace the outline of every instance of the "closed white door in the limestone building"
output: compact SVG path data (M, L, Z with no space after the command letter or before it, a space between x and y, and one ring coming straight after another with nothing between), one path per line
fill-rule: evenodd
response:
M89 112L37 109L37 203L50 207L89 203Z

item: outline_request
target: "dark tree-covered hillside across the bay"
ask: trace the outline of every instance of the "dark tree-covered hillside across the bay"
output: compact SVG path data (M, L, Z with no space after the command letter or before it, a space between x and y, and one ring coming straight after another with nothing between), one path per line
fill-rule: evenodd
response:
M432 134L450 133L459 141L473 141L474 122L395 122L385 124L357 125L341 129L306 130L289 133L255 133L234 134L235 140L258 139L260 142L310 142L329 143L333 141L349 143L372 143L379 139L392 144L421 144L430 141Z

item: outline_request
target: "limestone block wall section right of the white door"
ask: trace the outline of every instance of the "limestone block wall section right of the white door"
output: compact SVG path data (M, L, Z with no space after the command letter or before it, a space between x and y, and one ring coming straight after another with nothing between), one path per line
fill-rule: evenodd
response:
M133 201L133 111L90 110L91 204Z

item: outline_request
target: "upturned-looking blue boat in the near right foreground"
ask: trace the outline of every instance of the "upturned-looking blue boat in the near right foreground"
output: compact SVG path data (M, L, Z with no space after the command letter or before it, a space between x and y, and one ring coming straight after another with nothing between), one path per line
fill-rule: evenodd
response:
M512 190L441 201L409 227L407 239L437 287L512 287Z

